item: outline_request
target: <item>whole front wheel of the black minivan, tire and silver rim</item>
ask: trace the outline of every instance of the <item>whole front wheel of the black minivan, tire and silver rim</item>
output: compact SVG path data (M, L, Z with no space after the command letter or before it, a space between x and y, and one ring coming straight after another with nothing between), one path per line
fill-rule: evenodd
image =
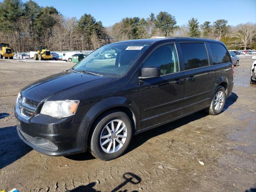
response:
M121 156L132 139L132 123L124 112L100 117L90 140L90 152L104 161Z

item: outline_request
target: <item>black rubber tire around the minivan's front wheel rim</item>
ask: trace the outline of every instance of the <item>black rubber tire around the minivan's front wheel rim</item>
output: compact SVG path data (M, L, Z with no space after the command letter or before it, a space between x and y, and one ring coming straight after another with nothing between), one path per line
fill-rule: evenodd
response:
M114 153L106 153L102 150L102 147L100 146L100 135L102 133L102 130L104 127L112 120L122 120L127 128L127 138L124 142L124 145ZM94 124L94 130L91 132L91 136L89 139L89 150L90 153L101 160L109 161L115 158L118 158L121 156L125 150L128 148L130 141L132 139L132 123L130 121L130 118L124 113L124 112L118 112L118 111L110 111L106 114L100 116L98 120ZM113 141L113 140L112 140ZM111 141L111 142L112 142Z

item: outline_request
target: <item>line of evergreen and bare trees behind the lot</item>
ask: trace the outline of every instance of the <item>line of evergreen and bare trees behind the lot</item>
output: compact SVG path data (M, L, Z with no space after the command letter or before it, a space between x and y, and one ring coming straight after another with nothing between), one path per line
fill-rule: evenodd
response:
M148 18L123 18L104 27L90 14L66 18L52 6L42 7L33 0L0 2L0 42L10 43L15 52L36 50L46 45L52 51L94 50L111 42L152 36L191 36L217 39L229 49L256 48L256 24L228 25L224 19L199 24L196 18L177 25L168 12Z

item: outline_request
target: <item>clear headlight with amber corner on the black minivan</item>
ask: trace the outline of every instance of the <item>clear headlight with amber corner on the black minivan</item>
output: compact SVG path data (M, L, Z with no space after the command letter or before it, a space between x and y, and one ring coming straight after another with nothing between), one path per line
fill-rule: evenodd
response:
M76 113L79 101L46 101L40 114L49 115L55 118L64 118Z

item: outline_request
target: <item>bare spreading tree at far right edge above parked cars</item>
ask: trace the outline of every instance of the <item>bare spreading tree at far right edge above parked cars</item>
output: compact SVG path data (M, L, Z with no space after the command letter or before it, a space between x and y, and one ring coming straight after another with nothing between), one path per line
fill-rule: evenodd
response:
M233 36L236 37L235 46L243 46L246 50L250 40L256 35L256 25L252 23L239 24L234 28Z

